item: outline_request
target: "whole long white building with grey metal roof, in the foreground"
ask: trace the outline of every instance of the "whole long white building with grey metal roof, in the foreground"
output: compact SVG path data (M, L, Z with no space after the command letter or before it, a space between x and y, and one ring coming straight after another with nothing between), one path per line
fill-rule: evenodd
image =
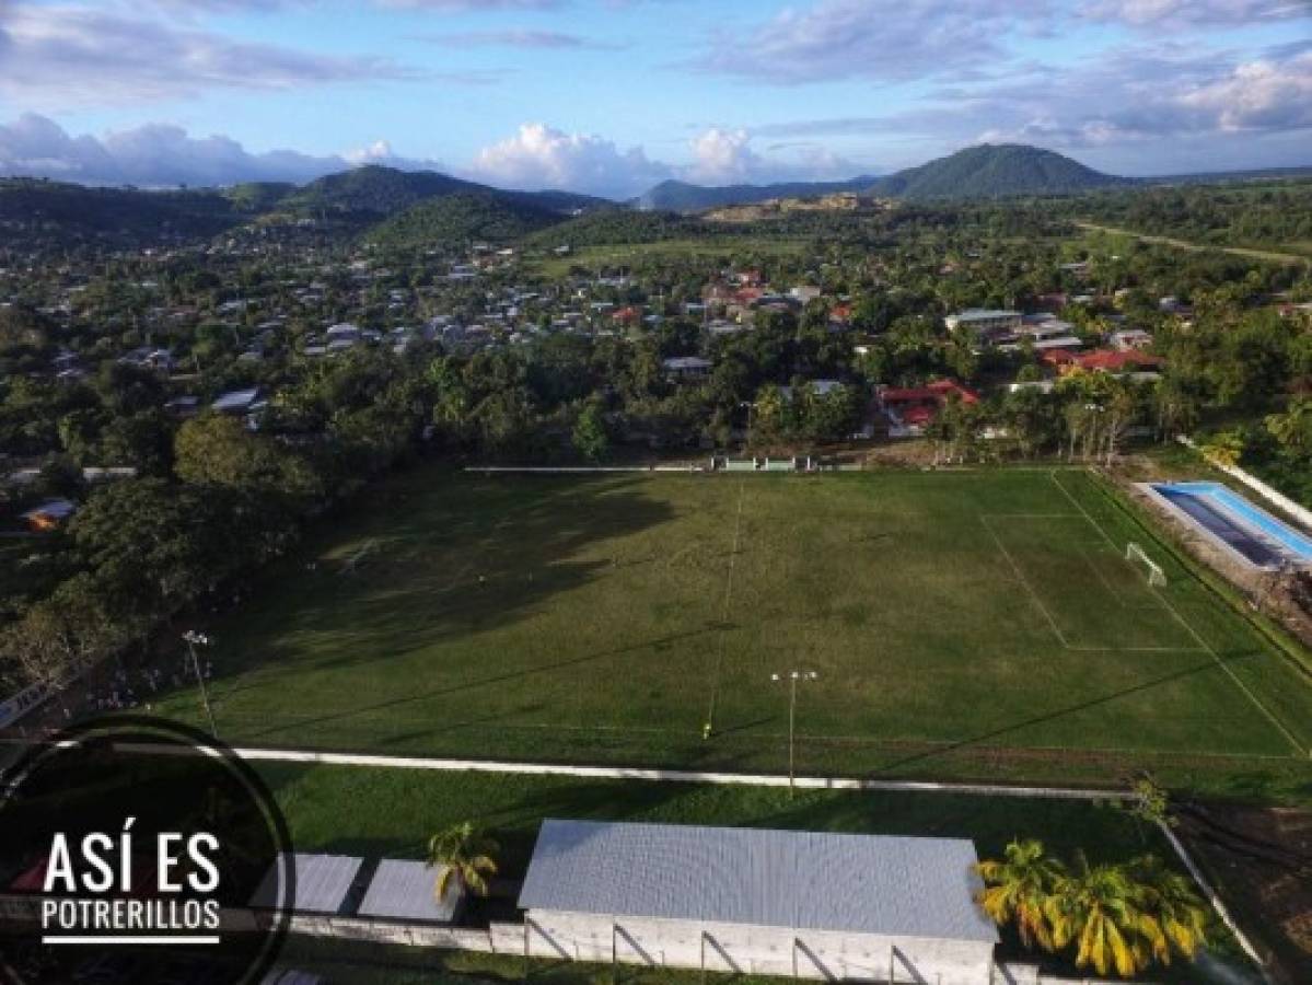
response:
M972 842L544 821L525 954L838 981L992 981Z

